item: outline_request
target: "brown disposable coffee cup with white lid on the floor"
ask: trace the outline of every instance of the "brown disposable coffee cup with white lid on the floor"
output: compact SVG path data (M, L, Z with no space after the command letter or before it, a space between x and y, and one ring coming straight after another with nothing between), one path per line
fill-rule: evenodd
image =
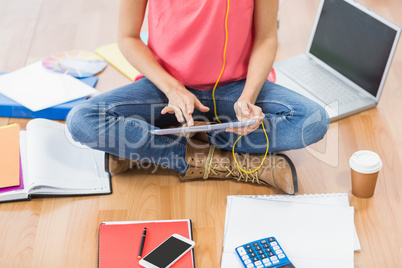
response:
M352 172L352 194L360 198L372 197L382 168L381 158L372 151L357 151L350 157L349 165Z

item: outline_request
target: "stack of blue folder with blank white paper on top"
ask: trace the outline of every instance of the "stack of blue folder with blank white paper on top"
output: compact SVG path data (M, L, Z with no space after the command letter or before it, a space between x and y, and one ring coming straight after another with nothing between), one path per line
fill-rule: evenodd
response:
M47 70L41 62L0 73L0 117L65 120L75 105L98 93L97 81Z

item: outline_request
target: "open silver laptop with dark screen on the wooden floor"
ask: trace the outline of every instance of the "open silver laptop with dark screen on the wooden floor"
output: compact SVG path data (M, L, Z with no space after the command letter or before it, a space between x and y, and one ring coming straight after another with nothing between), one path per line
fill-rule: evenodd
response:
M375 107L400 34L355 1L322 0L306 53L276 62L276 83L325 107L331 121Z

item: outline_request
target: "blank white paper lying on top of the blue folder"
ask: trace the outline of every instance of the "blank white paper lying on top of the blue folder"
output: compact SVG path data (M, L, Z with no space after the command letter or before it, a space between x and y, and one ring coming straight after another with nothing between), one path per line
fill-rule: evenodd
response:
M39 61L0 76L0 93L36 112L98 91L70 75L47 70Z

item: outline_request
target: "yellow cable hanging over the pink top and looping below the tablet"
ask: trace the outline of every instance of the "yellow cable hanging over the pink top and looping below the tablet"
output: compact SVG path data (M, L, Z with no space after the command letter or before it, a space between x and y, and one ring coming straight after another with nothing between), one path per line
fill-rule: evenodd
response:
M215 85L214 85L214 88L213 88L213 90L212 90L212 99L213 99L213 101L214 101L214 113L215 113L216 120L217 120L219 123L221 123L221 121L219 120L218 114L217 114L217 112L216 112L215 89L216 89L216 87L218 86L219 80L220 80L221 77L222 77L222 74L223 74L223 71L225 70L225 65L226 65L226 48L227 48L227 44L228 44L228 17L229 17L229 5L230 5L230 0L228 0L228 7L227 7L227 10L226 10L226 17L225 17L225 47L224 47L224 49L223 49L223 65L222 65L222 70L221 70L221 73L219 74L218 80L216 81L216 83L215 83ZM237 162L234 149L235 149L235 147L236 147L236 143L240 140L241 137L243 137L243 135L239 136L239 137L237 138L237 140L236 140L236 141L234 142L234 144L233 144L233 148L232 148L233 159L235 160L237 167L238 167L241 171L243 171L243 172L245 172L245 173L253 173L253 172L259 170L260 167L262 166L262 164L264 164L265 158L267 157L268 149L269 149L269 139L268 139L267 132L265 131L264 123L261 122L261 125L262 125L262 129L264 130L265 138L267 139L267 150L265 151L264 158L262 159L261 164L258 166L258 168L254 169L254 170L244 170L244 169L242 169L242 168L240 167L239 163Z

